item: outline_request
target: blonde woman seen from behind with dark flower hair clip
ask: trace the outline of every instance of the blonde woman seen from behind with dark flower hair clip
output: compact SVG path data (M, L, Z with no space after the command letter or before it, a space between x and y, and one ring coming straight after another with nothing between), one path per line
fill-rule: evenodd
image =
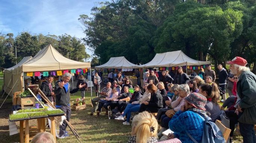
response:
M155 117L144 111L133 117L132 136L128 143L157 143L158 123Z

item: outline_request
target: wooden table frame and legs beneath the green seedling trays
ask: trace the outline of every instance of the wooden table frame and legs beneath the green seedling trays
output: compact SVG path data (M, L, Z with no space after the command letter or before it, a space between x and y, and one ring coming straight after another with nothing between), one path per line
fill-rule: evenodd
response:
M62 116L62 115L58 115L58 116ZM53 135L53 138L56 143L56 131L55 131L56 128L55 128L54 117L57 117L57 116L48 116L48 117L44 117L44 118L33 118L33 119L37 119L37 133L41 133L41 132L45 131L45 118L50 119L50 122L51 122L50 133ZM31 119L19 121L19 124L20 124L19 139L20 139L21 143L24 143L24 140L25 140L25 143L29 143L29 141L32 140L34 137L34 136L30 137L30 134L29 134L29 131L30 131L29 120L31 120ZM25 132L25 139L24 139L24 132Z

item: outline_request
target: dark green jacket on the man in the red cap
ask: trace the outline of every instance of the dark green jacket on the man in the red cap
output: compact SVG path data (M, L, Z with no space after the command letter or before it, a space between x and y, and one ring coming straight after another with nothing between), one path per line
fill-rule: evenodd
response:
M237 82L237 94L241 98L239 106L242 108L238 121L246 124L256 123L256 75L250 71L243 71Z

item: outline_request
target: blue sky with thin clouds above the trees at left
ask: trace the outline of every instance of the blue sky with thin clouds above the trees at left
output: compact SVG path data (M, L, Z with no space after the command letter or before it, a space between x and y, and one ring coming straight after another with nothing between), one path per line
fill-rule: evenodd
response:
M84 38L78 22L80 14L90 16L93 6L106 0L1 0L0 32L27 31L43 35L68 35ZM89 52L89 51L87 51Z

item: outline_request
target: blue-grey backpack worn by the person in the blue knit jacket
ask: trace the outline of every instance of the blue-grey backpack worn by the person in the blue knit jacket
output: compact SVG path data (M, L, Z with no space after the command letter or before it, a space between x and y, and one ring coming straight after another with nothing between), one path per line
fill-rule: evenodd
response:
M204 131L201 143L225 143L226 140L223 138L222 132L219 127L212 122L212 119L208 116L205 119L201 115L199 116L204 120ZM187 131L186 133L194 143L198 143Z

